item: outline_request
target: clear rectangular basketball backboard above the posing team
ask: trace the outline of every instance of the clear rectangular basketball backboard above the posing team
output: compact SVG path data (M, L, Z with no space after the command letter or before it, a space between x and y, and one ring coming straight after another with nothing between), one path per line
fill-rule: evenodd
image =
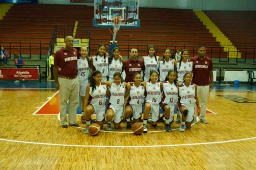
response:
M139 28L139 0L94 0L93 27L113 28L111 18L120 17L120 28Z

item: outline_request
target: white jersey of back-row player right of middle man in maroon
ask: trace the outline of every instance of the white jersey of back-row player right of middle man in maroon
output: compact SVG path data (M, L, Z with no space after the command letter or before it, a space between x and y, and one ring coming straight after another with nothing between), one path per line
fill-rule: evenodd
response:
M156 57L157 58L157 57ZM144 66L145 66L145 71L144 71L144 81L148 81L149 80L149 76L150 76L150 71L154 70L158 73L158 68L159 68L159 61L157 58L157 61L155 60L155 57L149 57L149 56L145 56L144 57Z

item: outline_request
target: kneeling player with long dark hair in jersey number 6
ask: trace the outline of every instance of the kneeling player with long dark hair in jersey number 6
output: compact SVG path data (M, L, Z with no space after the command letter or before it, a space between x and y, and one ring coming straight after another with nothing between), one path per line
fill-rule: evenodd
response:
M106 111L106 95L108 95L108 87L101 83L101 72L96 70L91 75L91 82L87 85L86 95L84 100L84 115L86 120L86 127L84 133L89 133L89 126L91 124L91 115L96 113L96 123L102 129Z

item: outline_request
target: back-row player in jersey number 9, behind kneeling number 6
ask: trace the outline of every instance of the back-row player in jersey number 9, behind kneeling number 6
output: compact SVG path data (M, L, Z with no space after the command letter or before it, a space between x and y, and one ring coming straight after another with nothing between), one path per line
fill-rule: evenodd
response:
M104 44L99 44L96 56L90 57L93 71L99 70L102 74L102 81L107 81L108 75L108 54Z

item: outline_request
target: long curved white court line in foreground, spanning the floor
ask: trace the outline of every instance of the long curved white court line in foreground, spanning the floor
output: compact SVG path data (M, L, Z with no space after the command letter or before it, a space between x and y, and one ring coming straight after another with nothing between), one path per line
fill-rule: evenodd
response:
M69 147L122 147L122 148L139 148L139 147L175 147L175 146L196 146L196 145L207 145L207 144L221 144L221 143L231 143L245 140L253 140L256 137L235 139L235 140L226 140L226 141L215 141L215 142L205 142L205 143L185 143L185 144L166 144L166 145L149 145L149 146L103 146L103 145L76 145L76 144L56 144L56 143L41 143L41 142L29 142L29 141L20 141L20 140L9 140L0 138L0 141L9 141L15 143L27 143L27 144L39 144L39 145L49 145L49 146L69 146Z

